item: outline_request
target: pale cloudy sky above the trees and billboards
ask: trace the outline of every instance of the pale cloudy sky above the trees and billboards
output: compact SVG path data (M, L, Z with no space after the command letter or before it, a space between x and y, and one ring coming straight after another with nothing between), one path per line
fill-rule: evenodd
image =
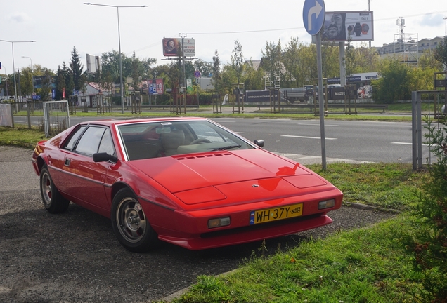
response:
M87 0L89 1L89 0ZM164 60L163 38L184 34L195 40L195 58L212 62L217 50L223 64L231 62L235 40L245 60L260 60L266 43L287 46L291 38L311 43L303 24L304 0L91 0L110 6L84 5L78 0L0 0L0 74L41 65L56 71L70 63L75 47L86 68L86 53L99 55L121 50L141 60ZM325 11L374 13L374 41L382 46L399 34L396 20L405 19L404 33L417 38L446 34L447 1L325 0ZM118 15L119 11L119 33ZM416 37L416 36L415 36ZM415 39L415 38L413 38ZM368 44L368 42L366 42Z

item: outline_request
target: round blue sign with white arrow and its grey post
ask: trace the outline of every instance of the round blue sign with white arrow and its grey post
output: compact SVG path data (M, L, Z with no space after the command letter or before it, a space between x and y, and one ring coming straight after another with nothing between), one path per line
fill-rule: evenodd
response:
M306 0L303 7L303 22L306 31L316 36L318 68L318 104L320 108L321 164L326 170L325 115L323 108L323 68L321 66L320 31L325 22L326 8L324 0Z

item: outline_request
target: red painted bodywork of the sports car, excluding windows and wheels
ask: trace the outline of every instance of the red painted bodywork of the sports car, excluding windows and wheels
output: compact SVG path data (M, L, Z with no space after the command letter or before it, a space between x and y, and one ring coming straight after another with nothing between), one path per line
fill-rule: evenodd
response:
M207 121L92 121L110 128L116 163L96 163L91 156L61 148L74 126L37 144L34 170L39 175L46 164L63 196L106 217L111 216L117 189L128 187L138 197L158 237L188 249L284 236L332 222L326 213L341 207L343 194L339 189L299 163L253 144L250 149L127 160L117 125L179 120ZM318 203L327 199L334 199L335 205L319 210ZM299 217L250 224L254 210L296 203L302 203ZM231 224L210 229L209 219L219 217L230 217Z

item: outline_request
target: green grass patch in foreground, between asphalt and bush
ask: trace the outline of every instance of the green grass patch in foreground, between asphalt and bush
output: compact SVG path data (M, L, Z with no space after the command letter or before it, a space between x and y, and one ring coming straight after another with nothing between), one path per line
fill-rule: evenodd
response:
M174 302L417 302L422 276L398 239L409 229L401 215L254 257L231 274L197 277Z

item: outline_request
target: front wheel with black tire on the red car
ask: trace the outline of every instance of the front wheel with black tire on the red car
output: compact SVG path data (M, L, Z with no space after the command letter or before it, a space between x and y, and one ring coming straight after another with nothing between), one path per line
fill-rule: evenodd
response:
M130 189L120 189L112 203L112 227L119 243L134 253L144 253L158 243L143 208Z

